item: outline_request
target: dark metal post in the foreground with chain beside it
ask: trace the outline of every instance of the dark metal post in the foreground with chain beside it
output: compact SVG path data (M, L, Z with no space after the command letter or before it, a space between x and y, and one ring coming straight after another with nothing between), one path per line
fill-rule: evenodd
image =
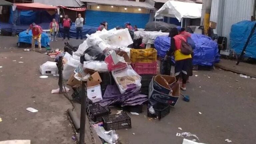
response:
M84 144L84 135L85 135L85 119L86 119L86 82L82 82L82 91L81 91L81 114L80 114L80 135L79 135L79 144Z

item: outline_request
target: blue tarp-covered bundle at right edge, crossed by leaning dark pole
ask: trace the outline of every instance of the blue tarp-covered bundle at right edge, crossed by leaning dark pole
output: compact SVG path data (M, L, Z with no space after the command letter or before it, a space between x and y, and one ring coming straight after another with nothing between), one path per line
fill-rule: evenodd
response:
M252 31L256 21L241 21L233 24L230 32L230 46L237 54L241 54L244 45ZM252 38L246 48L246 57L256 58L256 31L254 31Z

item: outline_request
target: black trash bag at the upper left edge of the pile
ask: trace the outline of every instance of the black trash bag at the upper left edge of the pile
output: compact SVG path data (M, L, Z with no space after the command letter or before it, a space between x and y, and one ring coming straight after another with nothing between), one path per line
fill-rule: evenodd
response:
M83 43L83 40L71 39L68 42L65 42L64 52L68 52L72 55L72 52L76 52L79 45Z

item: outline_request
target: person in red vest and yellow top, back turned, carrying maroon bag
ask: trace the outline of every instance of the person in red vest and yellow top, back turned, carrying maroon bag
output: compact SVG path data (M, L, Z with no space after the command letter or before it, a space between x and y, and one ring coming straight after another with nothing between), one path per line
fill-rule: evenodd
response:
M173 28L169 34L171 37L171 47L169 51L167 52L165 59L168 59L169 56L172 55L174 52L175 56L175 77L176 82L178 82L180 75L182 76L182 86L180 87L181 90L186 91L186 83L187 83L187 77L188 77L188 68L189 68L189 62L191 60L191 54L183 54L181 52L181 47L183 42L187 42L187 40L182 37L181 35L178 35L178 29Z

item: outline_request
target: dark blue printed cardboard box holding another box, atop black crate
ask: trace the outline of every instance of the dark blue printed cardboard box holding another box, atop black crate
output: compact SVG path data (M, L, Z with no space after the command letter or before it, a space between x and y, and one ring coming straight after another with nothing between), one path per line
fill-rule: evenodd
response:
M174 83L172 85L172 95L168 95L155 90L153 81L154 77L152 78L149 85L148 99L159 103L169 104L170 106L175 106L180 97L180 84Z

